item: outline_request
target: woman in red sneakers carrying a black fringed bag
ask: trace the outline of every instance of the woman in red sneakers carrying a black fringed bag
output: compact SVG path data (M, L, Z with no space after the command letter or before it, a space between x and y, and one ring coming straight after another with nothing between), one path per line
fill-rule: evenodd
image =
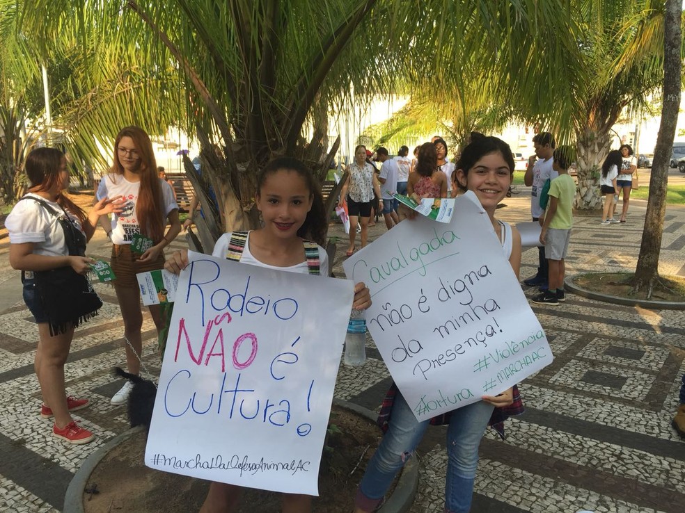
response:
M100 215L118 211L120 198L102 197L86 215L63 194L69 185L69 171L65 156L54 148L34 149L26 157L26 176L31 182L29 193L14 206L5 226L10 235L10 266L22 270L24 302L38 325L34 367L43 399L40 416L54 416L55 437L88 443L93 433L77 425L70 415L87 407L88 400L67 397L64 365L74 327L95 315L102 302L92 289L91 293L79 290L79 280L74 290L65 290L65 285L80 275L83 288L89 286L82 277L93 262L84 256L86 242L95 233ZM64 270L68 280L61 286L51 283ZM52 290L44 290L46 286Z

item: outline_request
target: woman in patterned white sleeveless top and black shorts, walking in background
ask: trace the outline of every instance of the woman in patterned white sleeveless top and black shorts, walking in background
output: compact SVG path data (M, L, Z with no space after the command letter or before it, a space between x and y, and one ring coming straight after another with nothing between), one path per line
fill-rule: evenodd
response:
M361 225L361 247L368 241L368 226L371 218L371 200L373 193L381 197L379 184L373 166L366 162L366 147L359 145L354 149L354 162L347 166L347 179L340 191L338 206L347 201L347 215L349 215L349 247L345 253L351 257L354 253L357 222Z

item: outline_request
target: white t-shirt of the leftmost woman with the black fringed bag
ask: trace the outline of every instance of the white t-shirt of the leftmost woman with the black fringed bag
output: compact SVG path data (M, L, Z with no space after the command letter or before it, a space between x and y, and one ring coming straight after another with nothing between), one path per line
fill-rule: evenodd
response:
M49 205L50 209L59 215L63 215L61 207L55 202L31 193L25 197L42 199ZM78 218L70 212L67 212L67 215L74 221L74 225L83 231ZM35 254L47 255L48 257L66 257L69 254L64 230L57 217L33 199L22 199L17 202L5 220L5 227L10 235L10 243L33 243L33 253Z

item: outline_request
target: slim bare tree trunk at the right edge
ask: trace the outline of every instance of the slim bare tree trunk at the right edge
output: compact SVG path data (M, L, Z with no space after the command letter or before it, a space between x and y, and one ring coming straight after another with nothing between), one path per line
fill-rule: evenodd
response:
M656 136L652 177L649 179L647 215L643 229L638 266L633 278L633 290L647 287L647 299L652 297L654 282L659 279L659 252L663 234L663 218L666 214L666 184L668 181L668 159L675 138L680 106L680 84L682 63L680 60L682 2L666 0L666 15L663 22L663 105L661 126Z

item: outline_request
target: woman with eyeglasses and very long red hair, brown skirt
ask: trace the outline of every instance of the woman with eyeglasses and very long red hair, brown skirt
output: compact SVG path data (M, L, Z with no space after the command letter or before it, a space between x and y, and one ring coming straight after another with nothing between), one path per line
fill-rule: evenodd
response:
M157 163L148 134L139 127L125 127L114 141L114 163L100 181L97 199L122 196L120 213L101 224L112 241L111 268L114 290L124 320L126 364L129 373L141 368L143 312L136 274L164 268L164 247L181 231L173 190L157 176ZM168 222L168 229L165 228ZM157 332L162 328L159 305L148 307ZM111 402L121 405L131 393L126 382Z

